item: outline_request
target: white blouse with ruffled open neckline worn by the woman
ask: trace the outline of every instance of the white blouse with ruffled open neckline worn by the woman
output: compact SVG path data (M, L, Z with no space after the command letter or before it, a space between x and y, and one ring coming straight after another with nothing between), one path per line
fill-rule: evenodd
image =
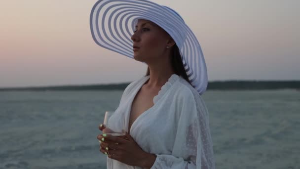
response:
M129 84L123 92L114 127L128 132L133 99L150 76ZM215 169L213 143L206 105L198 92L182 77L173 74L153 98L154 105L132 124L130 135L148 153L155 154L151 169ZM107 157L108 169L142 169Z

